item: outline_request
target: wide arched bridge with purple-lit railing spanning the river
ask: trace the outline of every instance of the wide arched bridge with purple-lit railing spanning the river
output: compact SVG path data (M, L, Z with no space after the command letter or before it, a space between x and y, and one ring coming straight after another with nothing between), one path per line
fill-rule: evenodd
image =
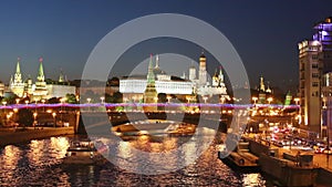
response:
M267 112L260 115L252 115L253 110L280 110L291 108L298 110L299 105L253 105L253 104L209 104L209 103L158 103L153 104L162 108L162 112L144 113L142 107L147 104L137 103L93 103L93 104L12 104L2 105L0 110L15 111L20 108L29 108L35 113L38 121L58 121L69 122L71 126L75 127L75 132L84 128L84 124L94 124L95 126L112 126L121 125L124 123L133 123L143 120L168 120L180 121L190 124L219 124L219 129L226 132L232 122L234 111L242 111L243 116L249 117L238 123L292 123L295 114L290 115L269 115ZM122 108L122 110L117 110ZM194 111L191 108L199 108ZM236 113L239 115L239 113ZM82 118L83 116L83 118ZM83 121L84 124L83 124ZM54 122L56 123L56 122ZM242 124L241 124L242 125ZM110 125L107 126L110 127ZM93 126L90 126L93 128ZM108 128L110 129L110 128Z

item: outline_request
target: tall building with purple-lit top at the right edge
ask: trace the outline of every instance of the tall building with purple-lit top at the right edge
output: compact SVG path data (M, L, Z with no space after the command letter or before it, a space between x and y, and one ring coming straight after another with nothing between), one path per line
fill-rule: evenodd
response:
M312 40L299 43L300 124L323 137L324 74L332 72L331 18L314 25Z

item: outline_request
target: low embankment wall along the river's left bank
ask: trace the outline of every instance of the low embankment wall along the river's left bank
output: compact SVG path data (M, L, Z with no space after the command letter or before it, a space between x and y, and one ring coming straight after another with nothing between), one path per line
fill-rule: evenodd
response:
M32 139L73 135L73 127L0 128L0 146L24 143Z

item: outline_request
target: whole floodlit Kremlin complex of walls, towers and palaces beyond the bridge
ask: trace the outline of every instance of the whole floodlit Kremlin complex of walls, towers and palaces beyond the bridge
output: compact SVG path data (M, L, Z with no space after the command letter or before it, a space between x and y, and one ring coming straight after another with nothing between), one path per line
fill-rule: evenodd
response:
M179 77L163 71L159 66L158 55L151 55L147 74L122 76L111 84L107 82L105 86L101 81L93 80L70 82L62 72L56 81L50 81L44 74L43 59L39 60L39 70L35 82L33 82L30 76L23 77L20 59L18 59L9 84L6 85L0 82L0 96L9 97L15 95L19 98L29 97L30 102L41 102L53 97L62 98L71 94L76 97L76 102L80 98L85 102L90 97L95 97L91 102L100 102L102 98L105 100L104 95L102 95L103 93L111 96L114 93L118 93L122 97L118 101L125 103L157 103L158 94L164 94L168 102L176 97L188 103L196 103L198 102L197 96L208 100L214 95L218 96L220 102L230 101L222 69L216 70L212 77L209 77L207 73L208 61L204 53L198 58L198 70L196 70L195 65L191 65L187 70L188 76L184 74ZM82 83L84 85L81 85ZM258 90L263 94L271 94L272 92L269 85L267 89L264 87L263 77L260 77ZM264 102L261 95L257 95L259 97L258 103Z

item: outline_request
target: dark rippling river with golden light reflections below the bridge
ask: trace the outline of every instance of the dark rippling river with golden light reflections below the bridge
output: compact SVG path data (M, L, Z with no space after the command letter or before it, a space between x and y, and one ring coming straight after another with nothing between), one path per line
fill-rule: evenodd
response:
M199 141L204 141L207 136L204 135ZM62 164L62 158L65 157L66 148L73 138L51 137L1 147L0 186L272 186L271 180L267 180L261 174L241 174L220 162L217 156L219 146L217 143L212 143L195 163L185 168L160 175L139 175L111 163L90 166ZM167 136L155 141L139 136L115 145L115 149L122 159L134 157L138 160L139 155L132 155L128 146L158 152L165 147L178 146L181 138L185 137ZM195 143L186 144L188 147L190 145L195 146ZM193 148L187 149L189 153L183 155L184 162L193 152ZM178 158L168 162L172 164L174 160ZM147 164L133 163L128 167ZM159 164L165 167L167 165L167 163Z

